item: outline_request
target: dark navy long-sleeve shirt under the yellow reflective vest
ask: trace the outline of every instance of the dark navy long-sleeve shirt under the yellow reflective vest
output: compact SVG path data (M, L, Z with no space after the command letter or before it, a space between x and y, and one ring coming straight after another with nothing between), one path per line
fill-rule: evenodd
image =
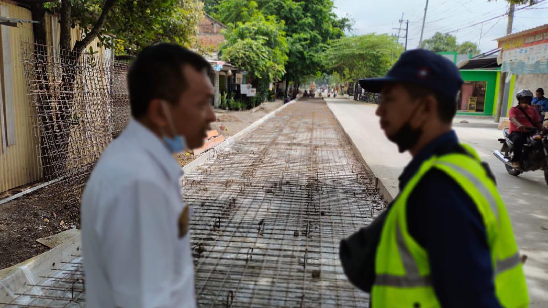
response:
M462 152L453 131L413 158L399 177L400 190L424 161L451 152ZM409 196L407 221L410 235L428 253L433 288L442 307L500 307L481 214L452 178L441 170L429 170Z

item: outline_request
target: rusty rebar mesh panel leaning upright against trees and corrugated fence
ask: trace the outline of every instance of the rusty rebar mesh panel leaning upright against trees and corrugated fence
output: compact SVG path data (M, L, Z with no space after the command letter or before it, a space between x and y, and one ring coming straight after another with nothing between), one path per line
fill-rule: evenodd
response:
M78 203L101 152L129 121L128 63L22 42L22 58L45 181Z

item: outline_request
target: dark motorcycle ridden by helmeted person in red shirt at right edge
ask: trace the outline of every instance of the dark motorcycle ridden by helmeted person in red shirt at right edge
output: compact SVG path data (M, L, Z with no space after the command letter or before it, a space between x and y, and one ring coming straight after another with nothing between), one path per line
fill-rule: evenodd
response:
M548 119L544 121L548 121ZM516 169L512 166L513 144L508 128L503 130L504 138L499 139L503 147L500 151L493 151L493 155L504 163L504 167L510 175L518 176L523 172L544 170L544 179L548 185L548 130L544 128L541 134L537 134L536 129L533 128L529 133L530 135L523 145L526 155L523 155L520 168Z

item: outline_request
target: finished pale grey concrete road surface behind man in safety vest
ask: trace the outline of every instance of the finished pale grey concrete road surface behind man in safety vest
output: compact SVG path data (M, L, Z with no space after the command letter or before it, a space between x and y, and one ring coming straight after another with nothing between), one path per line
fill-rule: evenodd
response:
M397 152L388 141L375 116L376 105L347 99L327 99L329 108L373 171L395 197L398 176L410 161L410 156ZM469 123L461 123L461 121ZM500 150L497 140L501 130L492 119L456 117L453 126L459 139L475 147L481 158L489 163L498 183L501 196L512 219L520 252L528 256L524 266L531 307L548 307L548 185L541 171L512 176L504 164L495 158L493 150Z

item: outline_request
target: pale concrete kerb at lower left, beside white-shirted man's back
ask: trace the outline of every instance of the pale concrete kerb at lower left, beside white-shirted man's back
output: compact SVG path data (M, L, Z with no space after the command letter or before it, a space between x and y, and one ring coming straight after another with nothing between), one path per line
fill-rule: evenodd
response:
M71 262L80 252L80 235L72 236L58 246L34 258L0 270L0 303L10 303L28 289L48 277L52 269Z

